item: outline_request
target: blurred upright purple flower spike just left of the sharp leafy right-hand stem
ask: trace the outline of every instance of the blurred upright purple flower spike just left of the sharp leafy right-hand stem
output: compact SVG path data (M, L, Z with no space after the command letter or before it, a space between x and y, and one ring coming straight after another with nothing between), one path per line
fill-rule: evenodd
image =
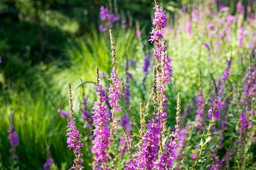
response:
M196 105L197 105L197 110L196 110L196 118L195 118L195 122L196 122L196 128L203 130L204 129L204 95L202 93L202 91L198 92L198 97L196 98Z

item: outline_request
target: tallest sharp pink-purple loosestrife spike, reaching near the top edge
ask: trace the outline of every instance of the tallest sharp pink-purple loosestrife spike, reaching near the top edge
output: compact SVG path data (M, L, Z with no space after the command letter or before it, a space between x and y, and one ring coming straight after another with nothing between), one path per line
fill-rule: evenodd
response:
M161 124L163 125L163 130L165 130L165 124L166 124L166 116L167 113L166 105L164 101L168 100L168 98L164 95L164 92L166 91L166 82L170 81L171 74L172 74L172 67L170 66L170 62L172 59L168 57L166 54L166 40L163 38L162 29L165 28L167 18L166 18L166 11L163 10L163 8L160 8L157 4L154 7L154 19L153 19L153 25L155 28L152 28L150 40L151 42L155 41L156 49L153 48L153 57L157 61L157 85L156 88L159 92L157 98L157 105L158 105L158 111L157 111L157 117L156 119L159 119ZM162 67L160 67L162 65ZM156 93L155 93L156 95ZM155 108L156 110L156 108Z

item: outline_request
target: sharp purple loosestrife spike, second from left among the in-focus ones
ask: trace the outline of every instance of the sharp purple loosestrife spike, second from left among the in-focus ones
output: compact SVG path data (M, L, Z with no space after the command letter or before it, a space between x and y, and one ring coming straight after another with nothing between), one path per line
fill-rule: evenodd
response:
M94 157L94 170L98 170L100 167L103 170L108 170L108 151L107 148L110 144L109 129L107 122L109 118L107 116L106 110L107 106L104 105L106 102L106 97L102 95L102 86L99 85L99 68L96 68L96 84L98 93L98 101L94 102L93 107L93 153Z

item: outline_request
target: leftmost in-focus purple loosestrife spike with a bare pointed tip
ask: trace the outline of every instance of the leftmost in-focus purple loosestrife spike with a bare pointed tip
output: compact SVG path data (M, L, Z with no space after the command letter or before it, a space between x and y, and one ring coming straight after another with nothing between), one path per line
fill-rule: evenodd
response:
M75 159L73 160L73 166L70 168L70 170L82 170L84 167L82 167L80 164L83 163L83 159L81 159L81 156L83 154L81 153L81 147L84 146L84 144L79 140L81 139L81 135L79 134L79 131L76 128L75 124L75 118L74 118L74 111L73 111L73 101L72 101L72 92L71 92L71 86L69 84L69 101L70 101L70 122L68 122L67 125L67 144L68 148L73 148L73 153L75 155Z

